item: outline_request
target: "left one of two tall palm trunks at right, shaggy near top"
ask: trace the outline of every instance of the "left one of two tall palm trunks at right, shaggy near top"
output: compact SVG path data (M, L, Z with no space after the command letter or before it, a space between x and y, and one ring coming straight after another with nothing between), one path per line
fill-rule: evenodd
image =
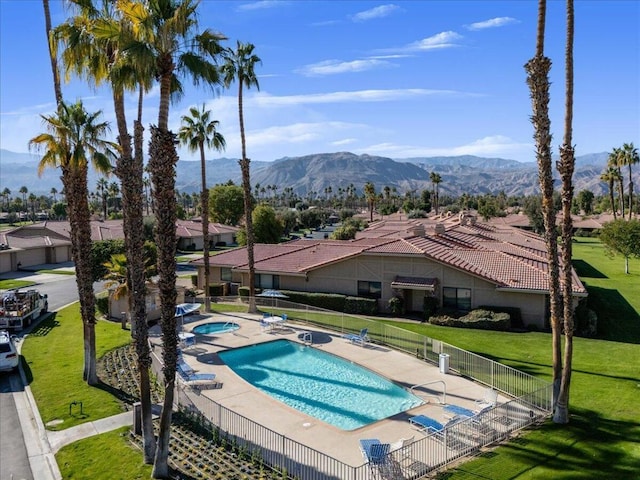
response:
M542 193L542 217L544 240L547 247L549 281L549 314L551 322L551 343L553 352L553 403L557 403L562 376L562 351L560 323L561 300L559 282L558 240L555 232L556 212L553 205L553 173L551 158L551 121L549 119L549 71L551 60L544 55L544 30L546 21L546 0L538 0L538 23L536 31L535 56L525 64L527 84L531 92L538 181Z

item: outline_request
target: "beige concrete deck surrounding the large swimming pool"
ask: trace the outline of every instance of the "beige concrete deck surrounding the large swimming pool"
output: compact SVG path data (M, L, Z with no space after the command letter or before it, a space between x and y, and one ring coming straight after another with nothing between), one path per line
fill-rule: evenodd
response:
M446 412L439 401L442 398L440 382L446 384L447 404L468 409L474 408L474 401L482 398L486 389L456 374L440 373L437 365L387 347L371 343L361 347L341 338L336 332L295 322L288 322L281 328L265 330L260 326L261 318L258 315L241 313L184 317L184 330L187 332L196 325L212 321L234 321L240 325L240 329L233 332L197 335L196 344L183 350L183 358L194 370L199 373L215 373L216 378L223 384L222 388L203 390L200 397L209 397L240 415L352 466L364 463L359 449L360 439L377 438L383 443L392 443L412 436L415 436L416 440L420 439L423 433L413 428L408 421L414 415L426 415L440 423L446 423ZM424 387L427 391L420 395L428 403L356 430L344 431L288 407L252 387L224 365L217 355L217 352L229 348L279 338L303 343L301 339L307 332L313 336L313 348L353 361L407 389L413 385L435 382ZM161 345L157 327L151 330L150 337L153 344ZM196 396L192 400L197 407L206 412L206 402L202 398ZM498 403L505 400L499 397Z

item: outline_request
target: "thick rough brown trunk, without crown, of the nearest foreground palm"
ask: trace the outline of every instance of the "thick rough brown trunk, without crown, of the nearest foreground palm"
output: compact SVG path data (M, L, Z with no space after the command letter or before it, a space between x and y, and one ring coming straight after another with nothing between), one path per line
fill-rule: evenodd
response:
M161 102L162 103L162 102ZM158 246L158 287L160 294L160 327L162 330L162 361L164 378L164 403L160 414L160 431L153 478L169 475L169 437L171 412L178 359L178 332L175 319L176 305L176 196L175 164L178 155L175 135L160 128L151 127L149 167L153 182L156 244Z

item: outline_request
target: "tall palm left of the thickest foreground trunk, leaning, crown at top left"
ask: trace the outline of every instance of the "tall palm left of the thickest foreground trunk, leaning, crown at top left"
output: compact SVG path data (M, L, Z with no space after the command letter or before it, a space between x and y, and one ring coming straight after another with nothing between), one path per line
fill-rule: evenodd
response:
M56 29L56 37L65 47L63 60L67 71L85 76L96 85L107 82L112 88L120 144L120 156L114 173L122 183L123 230L128 258L127 291L140 380L144 462L151 464L156 443L151 411L151 356L147 342L145 275L141 253L144 245L141 112L143 93L150 88L153 71L148 63L139 60L131 52L125 54L125 46L131 40L130 22L115 8L114 2L105 0L99 9L92 1L72 0L71 3L75 5L78 14ZM138 88L139 94L138 118L134 122L134 155L127 128L124 91L135 88ZM102 192L103 215L106 218L106 180L99 184L99 190Z

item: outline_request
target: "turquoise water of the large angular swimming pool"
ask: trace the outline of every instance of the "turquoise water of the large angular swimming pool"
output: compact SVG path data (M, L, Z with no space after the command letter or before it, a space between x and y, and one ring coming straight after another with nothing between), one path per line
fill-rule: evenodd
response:
M289 340L219 355L253 386L342 430L354 430L423 403L366 368Z

